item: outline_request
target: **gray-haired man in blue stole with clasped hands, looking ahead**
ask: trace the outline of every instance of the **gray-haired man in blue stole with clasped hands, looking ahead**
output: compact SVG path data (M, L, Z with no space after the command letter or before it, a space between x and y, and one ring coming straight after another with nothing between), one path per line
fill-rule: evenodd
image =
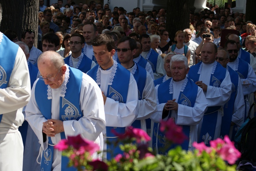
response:
M158 123L161 119L173 119L176 125L182 126L187 136L187 140L181 144L182 148L191 149L191 144L197 141L197 124L202 120L208 103L202 88L186 77L189 68L185 56L174 55L170 61L170 69L172 78L155 87L158 111L151 119ZM165 137L160 130L156 146L158 153L168 152Z

